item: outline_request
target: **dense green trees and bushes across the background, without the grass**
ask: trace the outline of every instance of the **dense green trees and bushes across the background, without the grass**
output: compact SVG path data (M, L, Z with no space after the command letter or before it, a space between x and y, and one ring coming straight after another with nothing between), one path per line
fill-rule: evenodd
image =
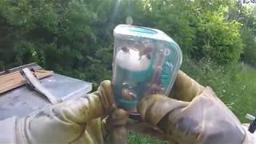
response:
M134 25L165 31L191 58L237 62L243 43L249 43L246 38L242 41L241 22L226 19L229 6L237 10L232 2L3 0L0 68L38 62L46 69L91 82L110 78L112 31L127 16L134 19ZM102 48L105 54L100 54Z

